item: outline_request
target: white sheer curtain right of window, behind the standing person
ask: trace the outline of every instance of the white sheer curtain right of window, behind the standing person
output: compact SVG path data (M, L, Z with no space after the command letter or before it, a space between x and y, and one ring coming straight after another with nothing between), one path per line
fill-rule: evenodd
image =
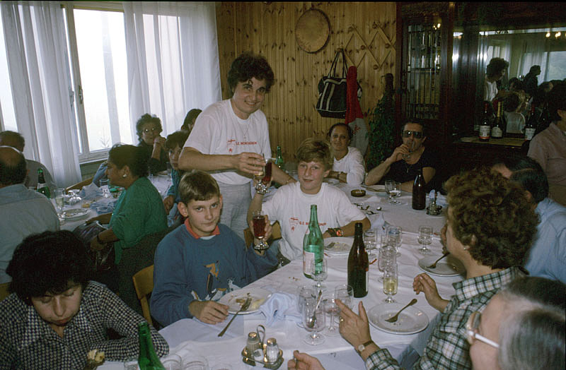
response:
M124 1L132 137L144 113L162 135L178 131L192 108L221 99L214 2Z

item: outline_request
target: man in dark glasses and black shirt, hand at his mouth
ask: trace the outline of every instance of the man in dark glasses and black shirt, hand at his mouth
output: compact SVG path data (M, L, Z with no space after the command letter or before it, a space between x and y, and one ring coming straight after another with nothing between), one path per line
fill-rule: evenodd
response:
M371 169L366 175L367 186L379 183L382 180L392 179L401 183L401 190L412 191L412 183L422 168L427 188L432 186L431 180L437 172L437 156L422 144L427 139L424 133L424 124L420 121L408 121L401 132L403 143L393 154Z

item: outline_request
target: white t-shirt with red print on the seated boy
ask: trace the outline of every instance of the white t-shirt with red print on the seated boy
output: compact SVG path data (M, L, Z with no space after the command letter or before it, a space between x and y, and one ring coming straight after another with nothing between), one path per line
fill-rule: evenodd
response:
M270 222L279 221L282 240L279 251L290 260L299 258L303 253L303 238L311 220L311 204L316 204L320 232L328 227L340 227L354 220L364 220L361 210L350 203L350 199L340 189L323 183L316 194L301 191L301 184L281 186L262 210L270 217Z

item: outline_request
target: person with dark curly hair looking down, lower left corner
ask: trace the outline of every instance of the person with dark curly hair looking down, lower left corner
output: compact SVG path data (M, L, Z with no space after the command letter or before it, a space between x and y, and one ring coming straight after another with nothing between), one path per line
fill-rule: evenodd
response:
M0 369L84 369L91 350L111 361L137 357L144 318L89 281L90 259L73 233L27 237L7 272L13 294L0 302ZM167 354L167 342L150 328L156 353ZM109 340L108 329L122 338Z

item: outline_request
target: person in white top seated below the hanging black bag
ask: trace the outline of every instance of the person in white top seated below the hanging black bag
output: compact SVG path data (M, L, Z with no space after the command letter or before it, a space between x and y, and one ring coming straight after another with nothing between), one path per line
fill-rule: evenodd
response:
M330 141L330 150L334 157L334 165L328 177L338 179L348 185L358 186L364 181L366 167L364 156L351 147L352 129L347 124L333 124L326 137Z

